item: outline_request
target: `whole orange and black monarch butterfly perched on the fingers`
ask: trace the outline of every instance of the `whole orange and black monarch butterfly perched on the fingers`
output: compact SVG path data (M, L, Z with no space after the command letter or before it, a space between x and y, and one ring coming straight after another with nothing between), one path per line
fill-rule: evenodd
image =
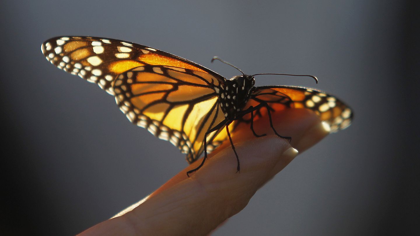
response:
M332 132L352 121L352 110L325 92L294 86L254 87L254 76L259 74L246 75L235 67L242 75L226 79L192 61L131 42L63 36L48 39L41 50L54 66L115 96L132 123L171 142L186 154L189 163L204 152L202 163L187 175L198 170L207 153L226 139L231 142L239 171L239 157L229 133L239 123L250 123L255 136L264 136L257 135L252 124L268 116L274 133L290 140L274 129L272 112L310 109Z

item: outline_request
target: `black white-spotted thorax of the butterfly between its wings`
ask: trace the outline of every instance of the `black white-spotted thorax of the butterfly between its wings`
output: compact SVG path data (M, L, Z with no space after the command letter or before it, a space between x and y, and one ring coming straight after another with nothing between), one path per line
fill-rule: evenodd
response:
M236 118L236 114L247 104L254 84L254 77L241 75L234 76L221 85L218 91L220 108L226 118L230 120Z

